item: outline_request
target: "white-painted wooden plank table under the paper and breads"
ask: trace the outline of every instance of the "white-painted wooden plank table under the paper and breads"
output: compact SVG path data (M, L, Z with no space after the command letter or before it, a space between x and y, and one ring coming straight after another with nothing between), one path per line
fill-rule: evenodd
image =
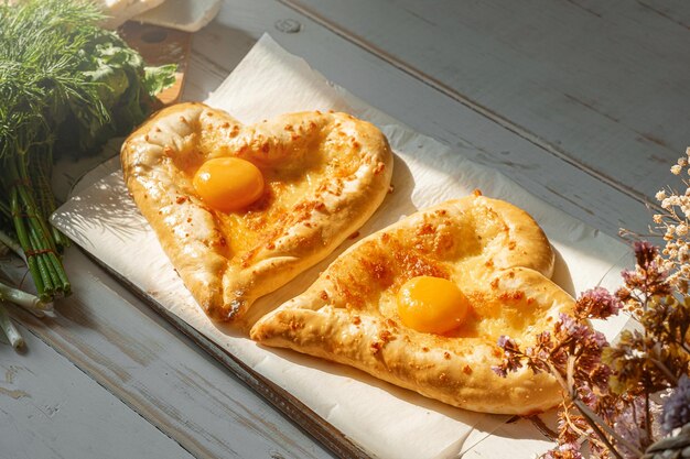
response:
M690 143L689 29L682 0L228 0L194 36L183 97L204 99L269 32L615 236L646 231ZM57 317L15 314L28 350L0 346L0 458L332 457L79 250L65 262ZM513 457L526 440L506 441Z

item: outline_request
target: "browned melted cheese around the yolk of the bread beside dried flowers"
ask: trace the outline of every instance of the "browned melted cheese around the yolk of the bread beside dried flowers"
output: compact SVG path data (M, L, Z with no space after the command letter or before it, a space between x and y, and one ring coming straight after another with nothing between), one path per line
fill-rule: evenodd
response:
M377 316L392 318L417 331L441 334L439 339L478 338L494 343L502 335L522 336L526 330L547 329L552 318L543 316L543 305L539 306L520 288L490 282L492 275L499 272L494 270L487 248L503 245L503 250L511 250L504 221L490 209L465 217L459 226L439 215L434 221L418 226L412 238L409 232L398 231L367 241L352 254L357 258L358 270L347 278L334 278L337 296L345 300L343 306L358 309L377 305ZM463 317L455 326L420 328L410 325L414 320L401 317L401 288L408 281L424 275L448 280L466 296L468 305L459 306L459 316ZM513 278L515 274L508 270L505 275Z

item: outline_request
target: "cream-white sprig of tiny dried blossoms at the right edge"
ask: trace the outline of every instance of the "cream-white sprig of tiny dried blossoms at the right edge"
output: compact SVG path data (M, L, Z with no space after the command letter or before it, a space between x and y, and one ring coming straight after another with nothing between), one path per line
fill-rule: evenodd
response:
M686 155L671 167L673 175L690 175L690 147ZM664 267L670 273L670 283L679 292L687 294L690 286L690 181L682 178L683 194L668 188L656 194L664 212L654 216L657 229L661 231L666 245L661 250Z

